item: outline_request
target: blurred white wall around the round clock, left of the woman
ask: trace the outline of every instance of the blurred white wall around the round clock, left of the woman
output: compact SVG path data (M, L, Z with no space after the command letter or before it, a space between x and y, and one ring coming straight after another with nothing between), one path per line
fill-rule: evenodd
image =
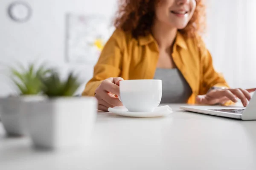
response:
M69 64L65 61L65 14L104 14L113 16L116 0L25 0L32 6L32 18L15 23L7 15L14 0L0 0L0 96L13 91L6 78L6 66L20 61L49 61L63 73L74 69L87 82L93 65ZM3 71L4 70L4 71ZM83 87L81 87L82 89Z

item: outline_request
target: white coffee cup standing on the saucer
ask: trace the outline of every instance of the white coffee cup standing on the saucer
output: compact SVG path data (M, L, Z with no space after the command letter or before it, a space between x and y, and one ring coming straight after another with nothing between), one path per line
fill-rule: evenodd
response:
M162 80L138 79L120 81L122 104L132 112L152 112L162 98Z

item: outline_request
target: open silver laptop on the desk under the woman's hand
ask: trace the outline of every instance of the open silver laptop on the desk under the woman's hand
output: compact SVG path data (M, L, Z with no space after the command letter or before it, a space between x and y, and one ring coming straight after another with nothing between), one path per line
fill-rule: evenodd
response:
M228 107L228 106L203 106L189 105L181 106L180 109L195 113L203 113L215 116L229 117L241 120L256 120L256 93L250 99L246 108L244 107Z

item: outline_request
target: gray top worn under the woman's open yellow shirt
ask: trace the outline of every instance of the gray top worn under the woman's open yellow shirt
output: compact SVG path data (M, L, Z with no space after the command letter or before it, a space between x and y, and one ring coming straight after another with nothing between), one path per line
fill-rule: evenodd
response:
M157 68L154 79L161 79L163 94L161 103L186 103L192 90L177 68Z

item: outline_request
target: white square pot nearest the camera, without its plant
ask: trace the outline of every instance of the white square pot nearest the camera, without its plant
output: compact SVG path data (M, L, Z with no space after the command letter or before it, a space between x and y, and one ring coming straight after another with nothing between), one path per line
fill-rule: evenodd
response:
M94 97L60 97L24 106L34 147L62 149L90 141L97 114Z

